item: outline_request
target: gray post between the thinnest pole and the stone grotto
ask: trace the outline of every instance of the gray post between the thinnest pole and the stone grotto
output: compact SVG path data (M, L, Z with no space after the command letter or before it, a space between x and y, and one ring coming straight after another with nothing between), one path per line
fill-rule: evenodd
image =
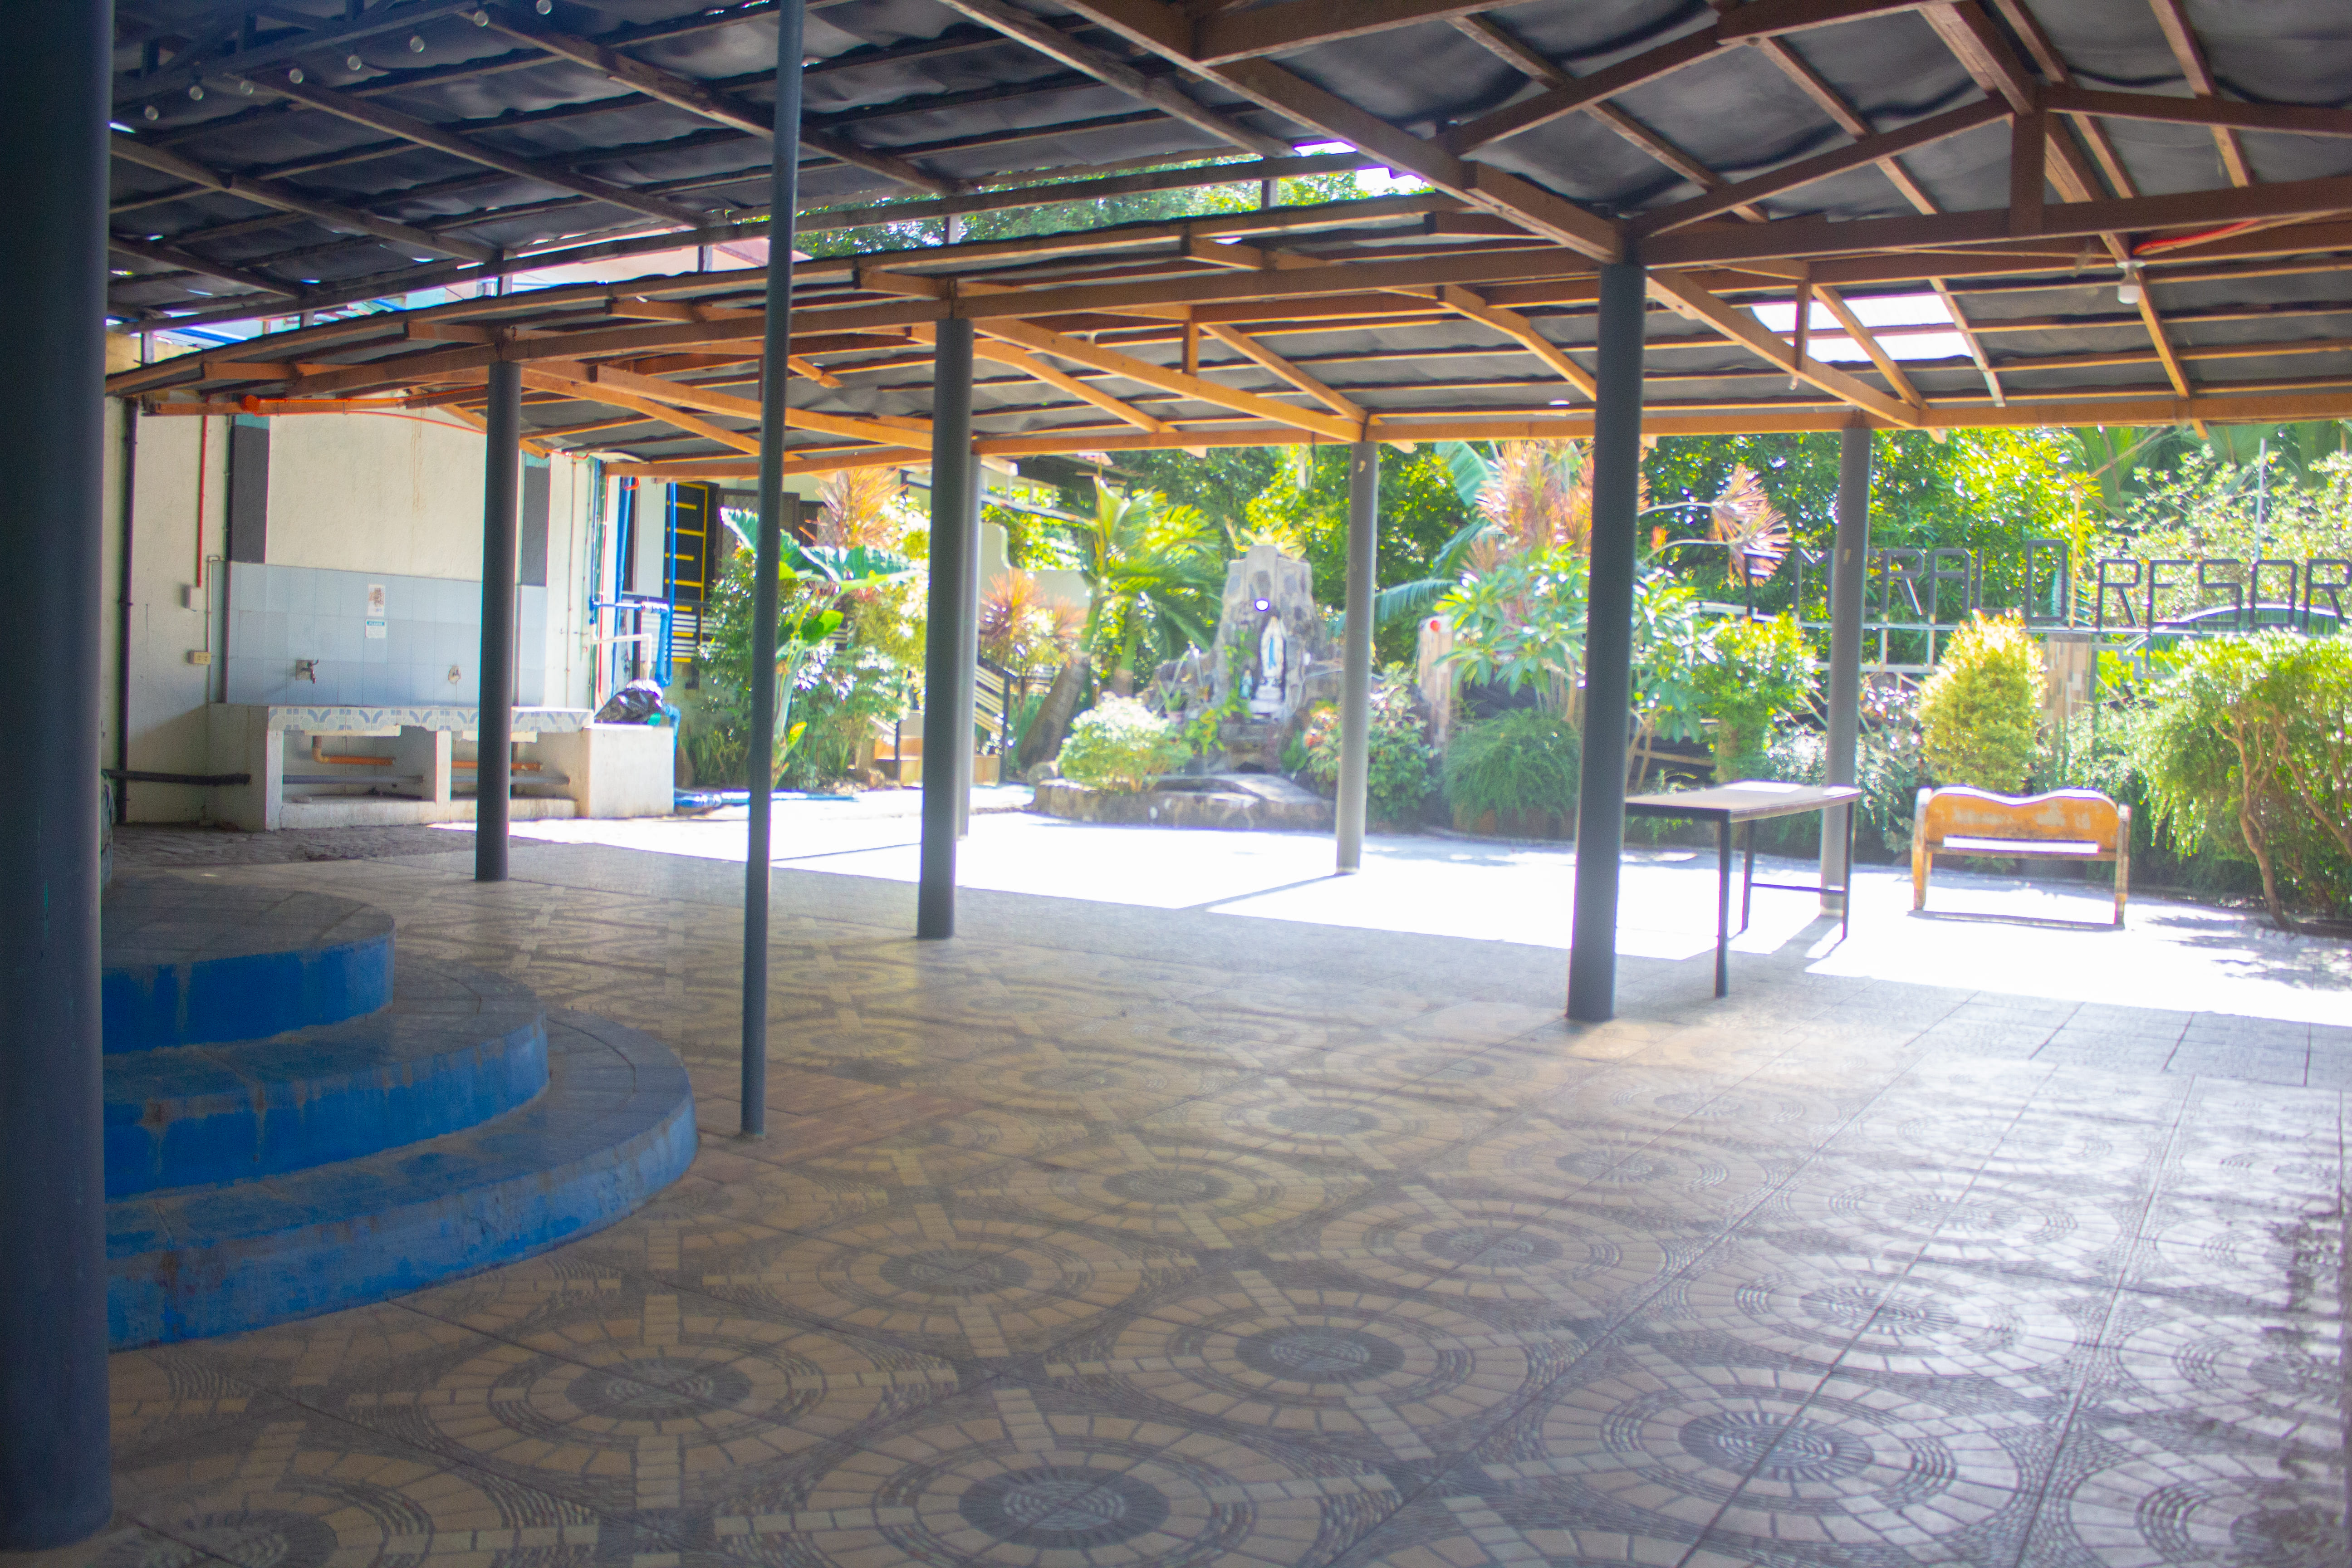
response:
M955 682L964 672L964 559L971 541L971 322L938 324L931 360L931 595L922 658L922 870L915 884L915 936L955 936L955 825L964 724ZM971 750L971 729L962 745Z

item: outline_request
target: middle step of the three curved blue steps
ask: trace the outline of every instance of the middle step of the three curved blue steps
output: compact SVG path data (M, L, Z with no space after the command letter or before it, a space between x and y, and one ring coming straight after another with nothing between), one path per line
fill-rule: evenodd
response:
M106 1058L106 1197L282 1175L440 1138L548 1081L529 987L400 959L393 1004L273 1039Z

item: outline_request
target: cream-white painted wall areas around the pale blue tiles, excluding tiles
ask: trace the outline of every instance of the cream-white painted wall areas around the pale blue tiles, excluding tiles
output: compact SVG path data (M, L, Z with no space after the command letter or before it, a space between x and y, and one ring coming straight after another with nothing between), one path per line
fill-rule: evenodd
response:
M103 762L115 764L115 670L122 545L122 418L108 400L106 501L96 527L106 538L106 607L96 639L103 668ZM205 705L226 701L228 661L245 649L230 639L221 592L223 559L205 564L195 609L183 588L198 581L198 557L226 557L228 425L223 418L141 416L136 484L132 494L129 590L129 766L158 773L209 773ZM198 461L198 442L205 456ZM198 473L202 470L202 524ZM536 701L586 708L593 658L586 646L588 517L593 503L583 458L548 458L548 585L543 609L527 616L534 646L517 661L536 665ZM659 527L659 517L656 517ZM306 414L270 421L268 571L320 583L426 578L466 599L482 571L482 435L445 416ZM656 541L659 581L659 541ZM473 590L473 602L480 590ZM209 665L188 651L207 646ZM230 616L252 604L230 604ZM536 609L536 607L534 607ZM249 644L247 644L249 646ZM383 644L376 644L379 649ZM536 658L534 658L536 654ZM461 661L473 672L473 658ZM292 646L287 649L292 668ZM470 686L470 682L468 682ZM132 820L202 820L207 792L186 785L132 785Z

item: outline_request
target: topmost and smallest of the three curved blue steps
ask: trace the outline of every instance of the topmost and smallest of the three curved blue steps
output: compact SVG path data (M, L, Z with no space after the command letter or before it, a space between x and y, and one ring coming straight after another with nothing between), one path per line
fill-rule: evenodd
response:
M393 917L353 898L195 877L115 882L106 1051L266 1039L393 999Z

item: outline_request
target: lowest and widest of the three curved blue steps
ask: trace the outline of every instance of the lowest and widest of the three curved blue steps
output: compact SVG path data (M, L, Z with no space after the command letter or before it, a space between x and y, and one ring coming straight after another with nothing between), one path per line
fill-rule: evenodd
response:
M548 1088L463 1133L285 1178L106 1206L118 1349L358 1307L586 1234L694 1161L687 1070L656 1039L548 1016Z

